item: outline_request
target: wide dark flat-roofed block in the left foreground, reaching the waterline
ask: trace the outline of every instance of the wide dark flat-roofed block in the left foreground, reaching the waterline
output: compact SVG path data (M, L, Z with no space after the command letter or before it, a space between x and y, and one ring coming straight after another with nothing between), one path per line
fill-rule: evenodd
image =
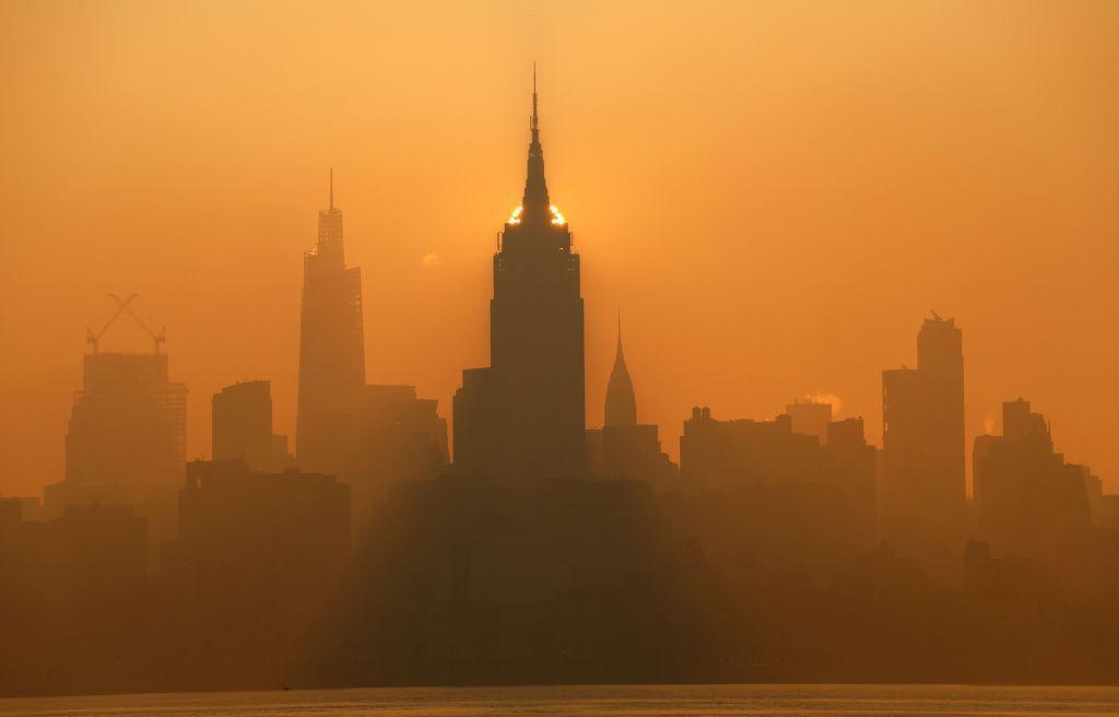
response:
M161 570L170 634L207 679L282 683L339 589L349 487L241 460L192 461L186 473Z

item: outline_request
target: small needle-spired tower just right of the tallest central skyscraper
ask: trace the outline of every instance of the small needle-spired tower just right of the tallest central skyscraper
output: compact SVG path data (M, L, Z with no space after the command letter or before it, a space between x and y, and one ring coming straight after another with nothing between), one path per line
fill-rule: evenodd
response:
M606 384L601 430L586 432L587 463L593 478L645 480L660 488L675 485L679 470L660 450L656 424L637 422L637 396L622 351L621 327L614 367Z

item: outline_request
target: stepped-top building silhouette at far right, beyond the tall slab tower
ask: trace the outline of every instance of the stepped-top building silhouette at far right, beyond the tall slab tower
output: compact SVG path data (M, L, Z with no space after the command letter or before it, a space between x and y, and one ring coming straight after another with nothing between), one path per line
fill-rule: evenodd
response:
M1052 563L1090 523L1091 473L1054 452L1029 402L1003 404L1003 435L977 436L972 460L979 530L997 555Z

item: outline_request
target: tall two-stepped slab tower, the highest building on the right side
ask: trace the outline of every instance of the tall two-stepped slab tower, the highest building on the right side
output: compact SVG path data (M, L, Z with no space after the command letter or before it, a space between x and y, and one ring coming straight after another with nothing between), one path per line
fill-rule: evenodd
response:
M882 374L883 537L931 573L958 575L967 487L963 353L952 319L918 333L918 366Z

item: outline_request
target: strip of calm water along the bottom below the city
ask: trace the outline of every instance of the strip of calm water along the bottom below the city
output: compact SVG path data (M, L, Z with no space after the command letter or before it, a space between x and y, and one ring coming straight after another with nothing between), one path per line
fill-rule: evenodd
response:
M10 717L473 717L576 715L1119 715L1119 688L866 685L477 687L45 697Z

